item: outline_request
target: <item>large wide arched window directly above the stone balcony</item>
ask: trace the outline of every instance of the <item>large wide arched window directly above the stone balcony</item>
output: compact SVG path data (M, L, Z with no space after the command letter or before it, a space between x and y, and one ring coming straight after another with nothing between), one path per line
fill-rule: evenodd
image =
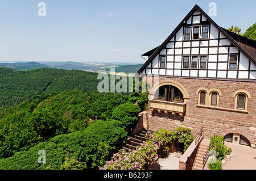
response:
M156 91L155 98L168 102L184 102L182 92L175 86L162 86Z

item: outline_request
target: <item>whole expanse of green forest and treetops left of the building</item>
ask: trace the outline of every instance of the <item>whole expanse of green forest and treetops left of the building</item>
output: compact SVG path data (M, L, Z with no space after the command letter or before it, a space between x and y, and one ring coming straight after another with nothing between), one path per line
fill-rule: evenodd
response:
M98 92L96 73L0 71L0 169L103 166L147 107L147 93ZM46 164L38 163L39 150Z

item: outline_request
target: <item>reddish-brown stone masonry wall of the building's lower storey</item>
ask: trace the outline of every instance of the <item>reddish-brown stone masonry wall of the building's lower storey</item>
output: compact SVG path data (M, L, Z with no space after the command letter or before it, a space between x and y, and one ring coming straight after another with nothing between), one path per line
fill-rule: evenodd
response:
M193 133L199 131L201 126L207 138L214 133L226 135L228 133L238 133L245 136L252 147L256 142L256 82L218 81L209 79L187 79L187 78L167 78L159 77L159 82L163 80L173 80L181 83L189 94L184 117L172 116L171 113L152 112L148 110L148 129L156 131L160 128L174 129L178 126L191 128ZM148 82L154 87L154 82ZM196 91L200 87L208 90L218 89L222 96L219 99L218 107L234 109L234 92L245 90L250 93L251 99L247 103L248 113L215 110L212 108L197 107L198 94Z

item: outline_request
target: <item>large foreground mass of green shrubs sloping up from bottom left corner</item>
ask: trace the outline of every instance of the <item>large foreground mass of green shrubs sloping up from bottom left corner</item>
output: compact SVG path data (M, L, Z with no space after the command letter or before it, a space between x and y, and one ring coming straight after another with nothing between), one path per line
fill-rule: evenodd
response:
M0 159L0 169L94 169L102 166L115 145L123 143L125 129L119 121L97 121L84 131L61 134L46 142ZM46 163L38 163L38 151L46 151Z

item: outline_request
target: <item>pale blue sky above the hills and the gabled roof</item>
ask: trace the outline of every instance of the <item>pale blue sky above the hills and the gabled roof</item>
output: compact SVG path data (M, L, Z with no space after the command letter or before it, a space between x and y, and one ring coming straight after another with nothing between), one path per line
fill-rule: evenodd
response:
M1 0L0 61L141 63L196 3L208 14L210 2L221 27L243 33L256 22L254 0Z

